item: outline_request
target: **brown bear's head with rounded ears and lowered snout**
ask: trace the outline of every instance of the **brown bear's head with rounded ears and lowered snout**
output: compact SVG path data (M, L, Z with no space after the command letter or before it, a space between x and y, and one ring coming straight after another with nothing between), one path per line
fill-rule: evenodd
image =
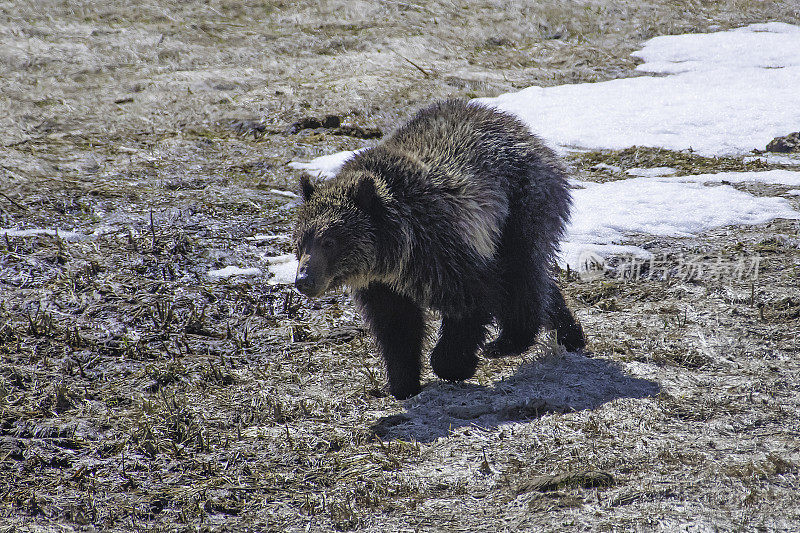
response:
M340 176L315 186L300 180L303 204L294 230L300 264L295 287L311 297L340 285L369 283L377 261L375 217L381 199L370 175Z

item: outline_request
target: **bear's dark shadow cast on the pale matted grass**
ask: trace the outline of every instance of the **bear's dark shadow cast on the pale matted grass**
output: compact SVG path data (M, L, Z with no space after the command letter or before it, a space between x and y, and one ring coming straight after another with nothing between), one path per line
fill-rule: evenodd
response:
M405 403L404 413L381 418L372 430L381 439L431 442L461 426L491 429L659 391L656 382L627 376L612 361L567 352L523 363L491 387L434 381Z

